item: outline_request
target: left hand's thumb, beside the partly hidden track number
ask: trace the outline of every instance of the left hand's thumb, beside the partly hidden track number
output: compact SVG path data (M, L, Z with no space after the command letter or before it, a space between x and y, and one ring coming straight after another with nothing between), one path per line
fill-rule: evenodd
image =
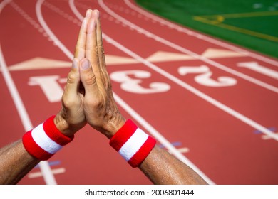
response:
M63 92L63 102L64 103L70 104L70 103L72 103L72 101L76 100L76 97L78 97L79 82L80 82L78 65L79 65L78 58L74 58L71 71L68 73L66 87Z

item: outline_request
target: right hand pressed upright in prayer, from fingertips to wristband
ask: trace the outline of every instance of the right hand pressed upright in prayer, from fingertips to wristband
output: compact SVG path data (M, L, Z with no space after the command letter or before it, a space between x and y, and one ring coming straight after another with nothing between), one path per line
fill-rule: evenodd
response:
M79 34L80 45L76 50L81 59L79 72L85 89L84 114L91 127L110 138L123 126L125 119L113 98L101 34L99 12L88 10Z

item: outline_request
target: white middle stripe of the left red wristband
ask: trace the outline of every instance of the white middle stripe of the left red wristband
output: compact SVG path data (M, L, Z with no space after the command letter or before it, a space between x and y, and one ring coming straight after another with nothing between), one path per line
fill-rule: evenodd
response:
M38 144L41 149L47 151L49 154L55 154L63 147L48 137L43 129L43 124L40 124L35 129L33 129L31 135L36 144Z

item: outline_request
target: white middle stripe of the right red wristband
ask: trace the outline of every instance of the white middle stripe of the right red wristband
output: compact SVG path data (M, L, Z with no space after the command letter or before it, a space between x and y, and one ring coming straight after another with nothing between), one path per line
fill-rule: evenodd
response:
M130 158L136 154L136 152L143 146L145 141L148 139L148 134L145 134L141 129L136 129L135 133L130 136L130 139L123 144L120 148L119 153L125 161L129 161Z

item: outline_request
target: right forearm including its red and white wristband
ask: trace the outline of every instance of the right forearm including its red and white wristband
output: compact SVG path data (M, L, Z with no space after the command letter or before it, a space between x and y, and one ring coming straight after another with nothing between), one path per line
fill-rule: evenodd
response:
M155 184L206 184L182 161L155 146L155 139L145 134L128 119L115 134L110 146L119 152L133 167L139 167Z

